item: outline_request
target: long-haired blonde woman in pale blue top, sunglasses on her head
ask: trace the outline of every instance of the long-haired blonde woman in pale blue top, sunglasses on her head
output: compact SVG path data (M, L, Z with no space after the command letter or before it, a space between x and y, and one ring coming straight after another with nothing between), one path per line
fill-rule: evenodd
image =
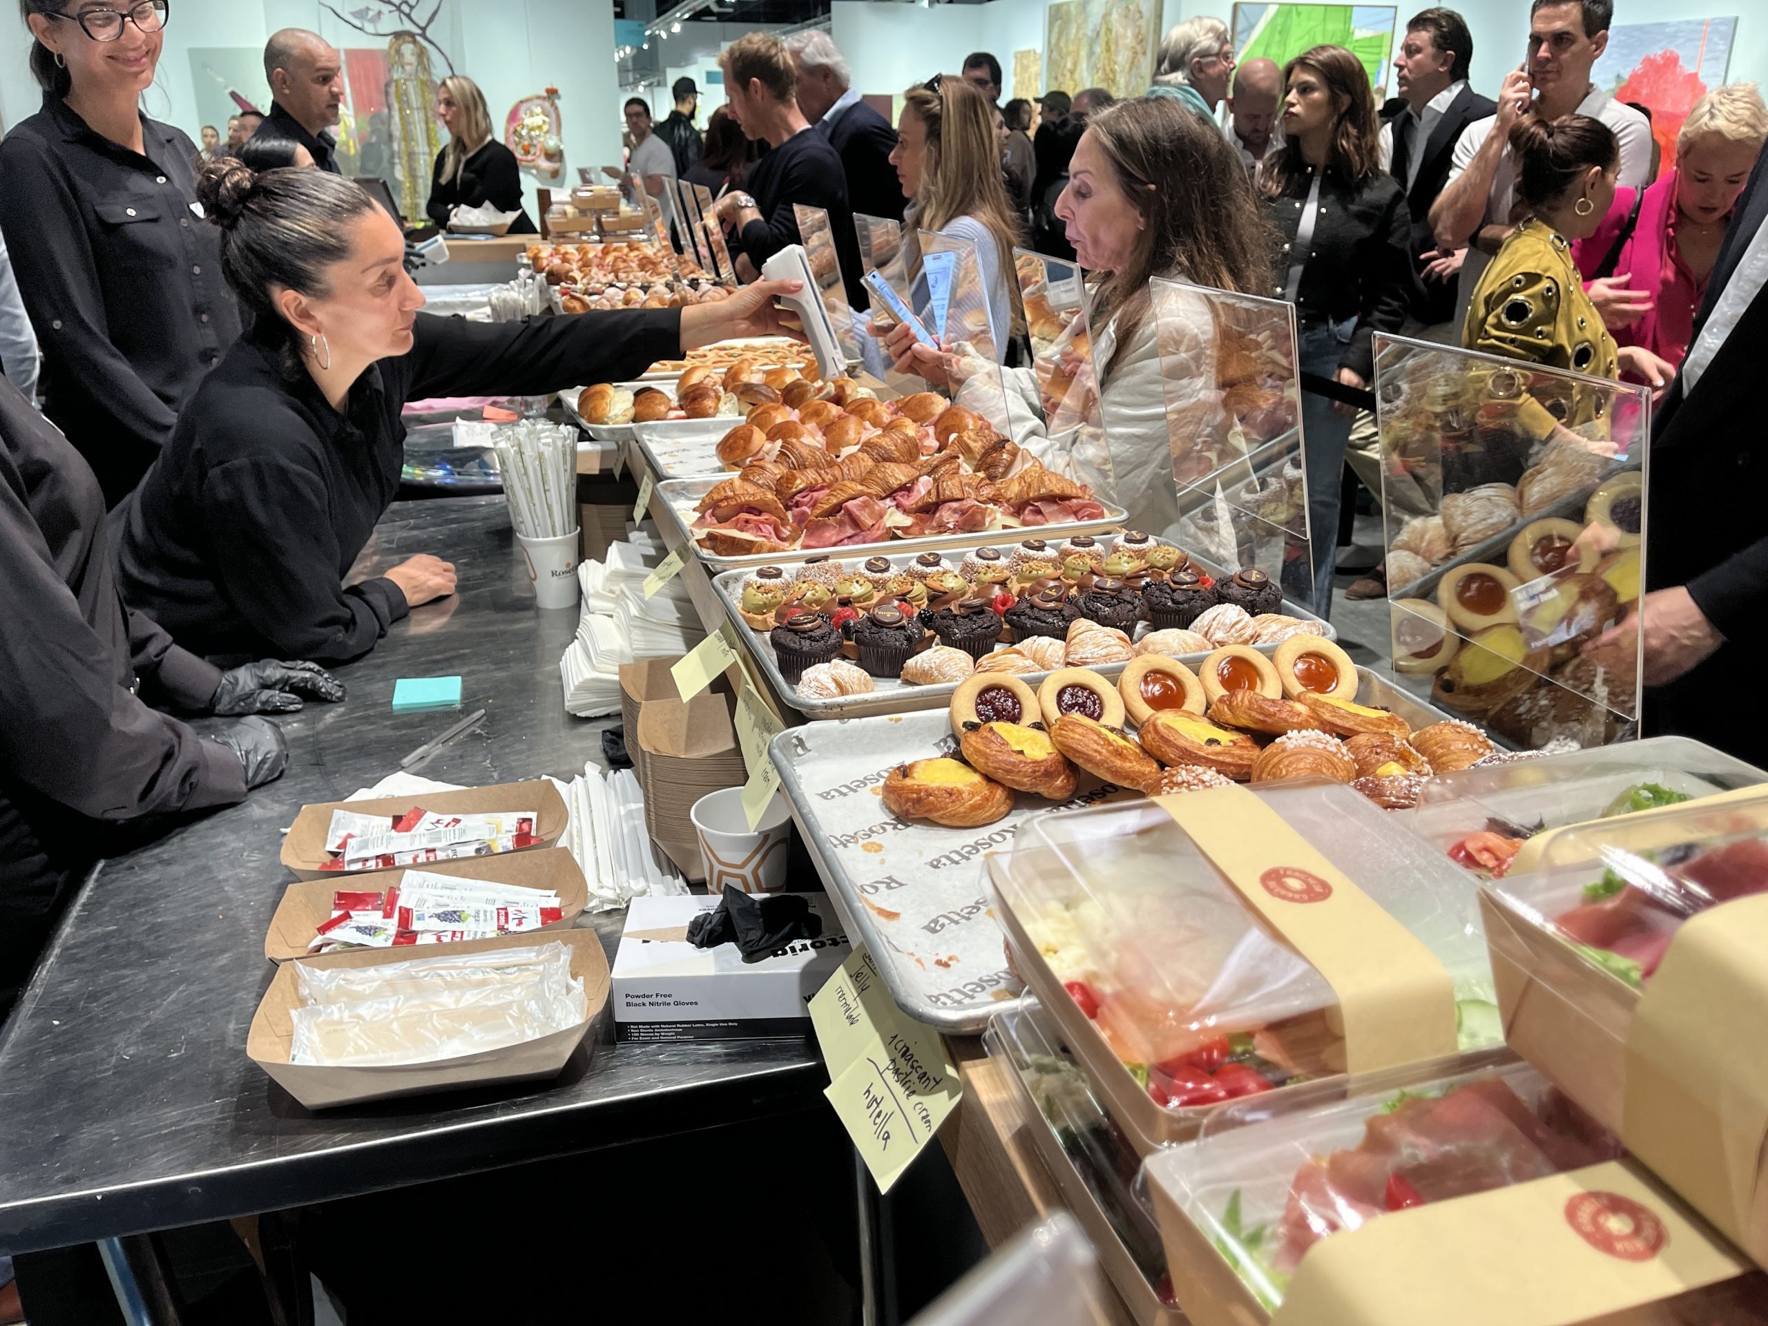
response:
M889 154L911 200L903 228L932 230L976 246L994 359L1006 357L1017 324L1013 246L1024 240L1001 177L1001 150L988 99L962 78L941 74L903 92L896 147ZM919 279L919 248L909 276Z

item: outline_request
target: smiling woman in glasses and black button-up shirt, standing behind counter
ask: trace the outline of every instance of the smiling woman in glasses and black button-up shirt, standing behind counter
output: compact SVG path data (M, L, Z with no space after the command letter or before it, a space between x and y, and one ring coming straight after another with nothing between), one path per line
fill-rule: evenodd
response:
M42 110L0 143L0 233L42 345L44 408L110 506L239 336L194 207L196 145L136 104L166 4L113 4L25 0Z

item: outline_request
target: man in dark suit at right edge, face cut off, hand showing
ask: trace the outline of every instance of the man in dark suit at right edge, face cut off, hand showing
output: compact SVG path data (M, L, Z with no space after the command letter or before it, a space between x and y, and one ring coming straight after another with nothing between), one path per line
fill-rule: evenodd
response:
M1637 615L1591 645L1628 651L1642 629L1644 730L1750 764L1768 764L1768 725L1749 707L1768 649L1768 454L1752 426L1768 354L1764 164L1768 154L1731 214L1688 357L1653 419L1648 592Z

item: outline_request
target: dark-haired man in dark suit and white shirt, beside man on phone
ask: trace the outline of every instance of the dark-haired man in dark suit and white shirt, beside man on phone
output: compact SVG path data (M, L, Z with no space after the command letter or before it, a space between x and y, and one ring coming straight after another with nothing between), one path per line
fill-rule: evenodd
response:
M1381 159L1406 191L1413 216L1413 318L1423 327L1455 320L1455 278L1466 249L1439 251L1430 203L1443 193L1455 140L1496 106L1467 87L1473 35L1453 9L1425 9L1406 25L1393 57L1398 97L1381 108Z

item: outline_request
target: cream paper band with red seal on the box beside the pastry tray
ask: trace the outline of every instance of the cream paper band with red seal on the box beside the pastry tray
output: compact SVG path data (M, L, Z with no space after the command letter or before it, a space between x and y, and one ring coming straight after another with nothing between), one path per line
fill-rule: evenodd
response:
M1243 787L1155 797L1338 999L1345 1071L1455 1054L1455 985L1406 926Z

